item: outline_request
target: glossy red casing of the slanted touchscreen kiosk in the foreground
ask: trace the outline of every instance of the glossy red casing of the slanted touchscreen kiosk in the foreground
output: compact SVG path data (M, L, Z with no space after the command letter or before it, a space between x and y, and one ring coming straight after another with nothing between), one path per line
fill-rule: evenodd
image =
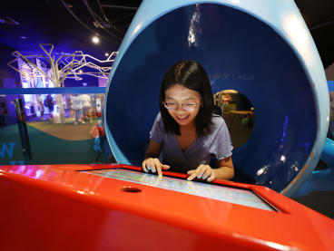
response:
M333 250L332 219L269 188L216 181L280 212L75 171L111 168L140 169L0 167L1 250Z

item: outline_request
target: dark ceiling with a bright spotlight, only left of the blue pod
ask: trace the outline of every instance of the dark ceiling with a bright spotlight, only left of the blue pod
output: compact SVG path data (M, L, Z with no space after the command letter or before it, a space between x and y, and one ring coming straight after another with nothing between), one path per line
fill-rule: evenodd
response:
M118 50L141 3L129 0L5 1L0 7L0 19L6 21L5 24L0 21L0 44L31 53L40 51L38 43L53 43L57 52L76 50L101 58L104 53ZM7 17L19 24L10 24ZM100 43L92 42L94 34L99 34Z

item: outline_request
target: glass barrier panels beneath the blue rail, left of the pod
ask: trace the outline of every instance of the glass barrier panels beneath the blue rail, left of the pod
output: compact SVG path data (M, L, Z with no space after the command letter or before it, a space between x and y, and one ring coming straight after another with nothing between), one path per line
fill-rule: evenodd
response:
M18 98L23 101L32 164L113 160L97 128L97 105L104 106L104 94L8 94L0 95L0 165L25 164L14 105Z

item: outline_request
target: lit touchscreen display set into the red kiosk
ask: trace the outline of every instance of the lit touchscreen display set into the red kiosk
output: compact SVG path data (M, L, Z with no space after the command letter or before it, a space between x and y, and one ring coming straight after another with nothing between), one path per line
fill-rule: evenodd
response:
M155 174L141 173L128 169L99 169L85 170L82 172L112 179L130 181L155 188L169 189L204 198L218 199L251 208L260 208L274 211L273 208L270 208L266 202L260 199L251 190L247 189L224 187L210 183L206 184L166 176L163 176L162 179L159 179Z

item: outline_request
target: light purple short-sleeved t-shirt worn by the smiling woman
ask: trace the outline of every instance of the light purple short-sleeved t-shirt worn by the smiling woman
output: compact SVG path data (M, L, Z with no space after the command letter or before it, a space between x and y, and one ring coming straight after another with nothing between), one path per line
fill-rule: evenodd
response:
M213 130L209 135L196 138L192 145L182 151L176 135L165 132L159 112L152 126L150 139L162 145L163 162L170 165L172 170L186 172L197 169L201 164L212 166L212 159L225 159L231 156L233 149L225 121L221 116L213 115L212 122Z

